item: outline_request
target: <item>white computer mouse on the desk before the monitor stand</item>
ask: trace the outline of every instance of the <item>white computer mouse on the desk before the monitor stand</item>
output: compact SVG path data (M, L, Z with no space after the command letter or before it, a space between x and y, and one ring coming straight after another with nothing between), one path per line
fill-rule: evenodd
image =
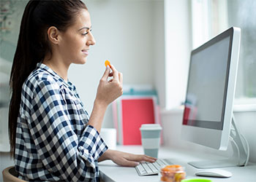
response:
M219 177L219 178L230 178L232 176L232 173L228 172L227 170L207 169L207 170L199 170L195 173L195 175Z

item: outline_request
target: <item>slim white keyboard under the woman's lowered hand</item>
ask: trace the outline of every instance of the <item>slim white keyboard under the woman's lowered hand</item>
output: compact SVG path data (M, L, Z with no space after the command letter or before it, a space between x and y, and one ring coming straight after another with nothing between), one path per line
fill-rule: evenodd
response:
M173 163L169 159L157 159L156 162L140 162L135 169L138 175L156 175L166 165L173 165Z

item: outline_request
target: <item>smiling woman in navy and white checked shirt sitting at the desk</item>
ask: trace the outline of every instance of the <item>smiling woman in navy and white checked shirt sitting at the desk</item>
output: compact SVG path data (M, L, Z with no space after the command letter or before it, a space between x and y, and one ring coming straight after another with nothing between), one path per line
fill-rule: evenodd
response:
M95 44L88 9L79 0L29 1L12 65L9 130L15 169L26 181L99 181L97 162L154 162L108 149L99 135L107 106L122 94L111 65L100 79L91 116L67 79ZM108 81L108 77L113 79Z

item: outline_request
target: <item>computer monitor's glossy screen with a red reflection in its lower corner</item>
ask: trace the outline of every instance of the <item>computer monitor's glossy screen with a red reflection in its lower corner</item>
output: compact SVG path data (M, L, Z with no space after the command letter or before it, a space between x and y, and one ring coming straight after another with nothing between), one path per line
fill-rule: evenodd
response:
M192 52L184 124L222 130L230 36Z

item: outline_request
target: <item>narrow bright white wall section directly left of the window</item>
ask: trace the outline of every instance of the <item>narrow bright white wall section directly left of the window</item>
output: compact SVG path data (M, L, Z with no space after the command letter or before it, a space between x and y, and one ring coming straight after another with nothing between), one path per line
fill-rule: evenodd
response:
M190 1L165 0L165 106L185 100L189 57L192 50Z

